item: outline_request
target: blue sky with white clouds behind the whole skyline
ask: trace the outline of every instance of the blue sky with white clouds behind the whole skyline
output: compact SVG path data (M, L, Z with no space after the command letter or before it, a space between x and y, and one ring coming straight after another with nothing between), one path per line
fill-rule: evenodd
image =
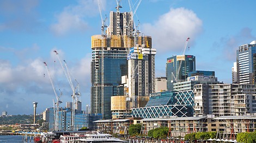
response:
M116 1L99 1L103 18L109 17ZM138 1L131 2L136 8ZM130 11L127 0L120 4L121 12ZM219 81L231 83L237 47L256 40L255 5L254 0L142 0L134 20L153 38L156 76L165 76L167 57L181 54L190 37L185 54L196 56L196 69L213 70ZM56 98L42 62L62 90L60 106L71 102L71 88L53 50L80 83L85 109L90 104L91 36L101 34L97 0L1 0L0 9L0 112L33 114L34 101L38 113L53 106Z

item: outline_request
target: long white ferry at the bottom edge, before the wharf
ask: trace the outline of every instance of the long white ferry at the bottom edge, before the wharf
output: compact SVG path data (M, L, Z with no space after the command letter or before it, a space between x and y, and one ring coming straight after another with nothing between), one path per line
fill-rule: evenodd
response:
M60 135L61 143L99 143L99 142L127 142L114 138L111 134L101 134L99 132L75 133L70 135Z

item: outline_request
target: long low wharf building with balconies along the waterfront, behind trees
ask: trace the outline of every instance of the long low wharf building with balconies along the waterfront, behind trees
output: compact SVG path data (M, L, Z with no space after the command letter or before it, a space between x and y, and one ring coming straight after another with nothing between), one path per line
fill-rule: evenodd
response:
M107 133L127 135L130 125L142 124L141 133L147 135L151 129L159 127L169 128L169 137L182 137L196 132L217 132L218 139L236 139L242 132L256 132L256 115L240 116L191 116L176 117L162 116L160 118L144 119L114 119L94 121L95 129Z

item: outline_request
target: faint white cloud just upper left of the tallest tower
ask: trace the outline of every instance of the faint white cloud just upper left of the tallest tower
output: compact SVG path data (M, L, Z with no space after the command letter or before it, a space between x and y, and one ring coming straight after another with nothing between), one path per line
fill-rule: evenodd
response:
M100 1L102 8L105 0ZM97 1L78 1L75 6L67 6L60 14L56 15L57 23L51 25L51 30L56 35L64 35L70 31L84 31L88 28L87 17L99 14Z

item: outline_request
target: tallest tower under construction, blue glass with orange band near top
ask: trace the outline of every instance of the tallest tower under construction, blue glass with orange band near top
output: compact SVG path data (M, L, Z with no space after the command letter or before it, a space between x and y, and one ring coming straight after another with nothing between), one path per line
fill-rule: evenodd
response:
M125 95L121 76L128 75L129 49L135 45L151 48L151 37L140 36L139 31L133 29L132 12L121 13L119 8L118 5L117 12L110 12L106 34L92 36L90 107L92 114L102 114L103 119L111 119L111 96ZM147 64L153 67L154 59L152 56L148 59ZM138 67L141 68L144 67ZM147 86L153 90L153 83L150 84Z

